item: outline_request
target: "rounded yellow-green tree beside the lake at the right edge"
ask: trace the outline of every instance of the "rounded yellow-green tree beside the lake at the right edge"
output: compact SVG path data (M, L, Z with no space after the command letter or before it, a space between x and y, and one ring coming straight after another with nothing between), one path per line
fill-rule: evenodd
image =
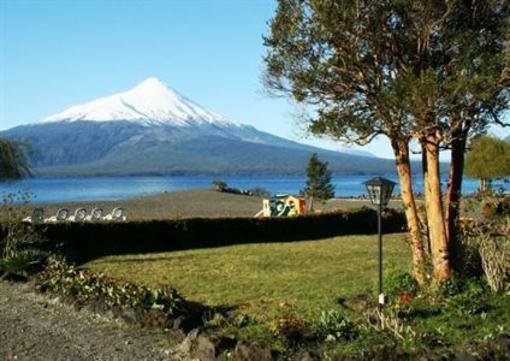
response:
M510 176L510 142L496 137L473 139L466 154L466 175L480 181L480 191L490 191L494 178Z

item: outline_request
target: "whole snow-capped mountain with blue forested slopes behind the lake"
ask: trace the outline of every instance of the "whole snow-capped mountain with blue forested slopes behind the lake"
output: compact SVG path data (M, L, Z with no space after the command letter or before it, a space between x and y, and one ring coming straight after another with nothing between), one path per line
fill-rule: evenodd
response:
M0 137L30 144L36 172L47 176L302 174L312 152L337 174L394 171L391 160L314 148L232 122L154 78Z

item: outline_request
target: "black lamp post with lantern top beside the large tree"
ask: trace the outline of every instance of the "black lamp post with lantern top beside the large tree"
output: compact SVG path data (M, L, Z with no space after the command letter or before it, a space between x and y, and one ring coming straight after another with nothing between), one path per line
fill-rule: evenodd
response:
M384 207L388 205L390 201L395 182L383 177L375 177L363 183L368 191L370 201L374 206L377 207L377 233L379 235L379 296L377 298L377 305L381 311L384 306L384 293L383 293L383 266L382 266L382 225L381 225L381 213Z

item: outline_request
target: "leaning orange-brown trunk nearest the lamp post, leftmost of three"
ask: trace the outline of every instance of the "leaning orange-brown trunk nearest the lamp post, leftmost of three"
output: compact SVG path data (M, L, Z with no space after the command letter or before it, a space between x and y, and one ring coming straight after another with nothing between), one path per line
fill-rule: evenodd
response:
M409 142L408 140L392 140L391 142L397 170L400 179L400 192L402 203L404 204L407 226L411 236L411 245L413 251L413 275L420 285L425 284L425 250L421 237L421 226L416 208L416 201L413 193L413 182L411 174L411 164L409 162Z

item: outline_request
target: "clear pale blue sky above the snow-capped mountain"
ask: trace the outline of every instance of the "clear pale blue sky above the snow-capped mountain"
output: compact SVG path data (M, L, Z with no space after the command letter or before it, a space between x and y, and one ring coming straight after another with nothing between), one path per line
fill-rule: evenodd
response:
M309 144L264 93L273 0L0 0L0 130L157 77L205 108ZM388 143L363 148L391 157Z

